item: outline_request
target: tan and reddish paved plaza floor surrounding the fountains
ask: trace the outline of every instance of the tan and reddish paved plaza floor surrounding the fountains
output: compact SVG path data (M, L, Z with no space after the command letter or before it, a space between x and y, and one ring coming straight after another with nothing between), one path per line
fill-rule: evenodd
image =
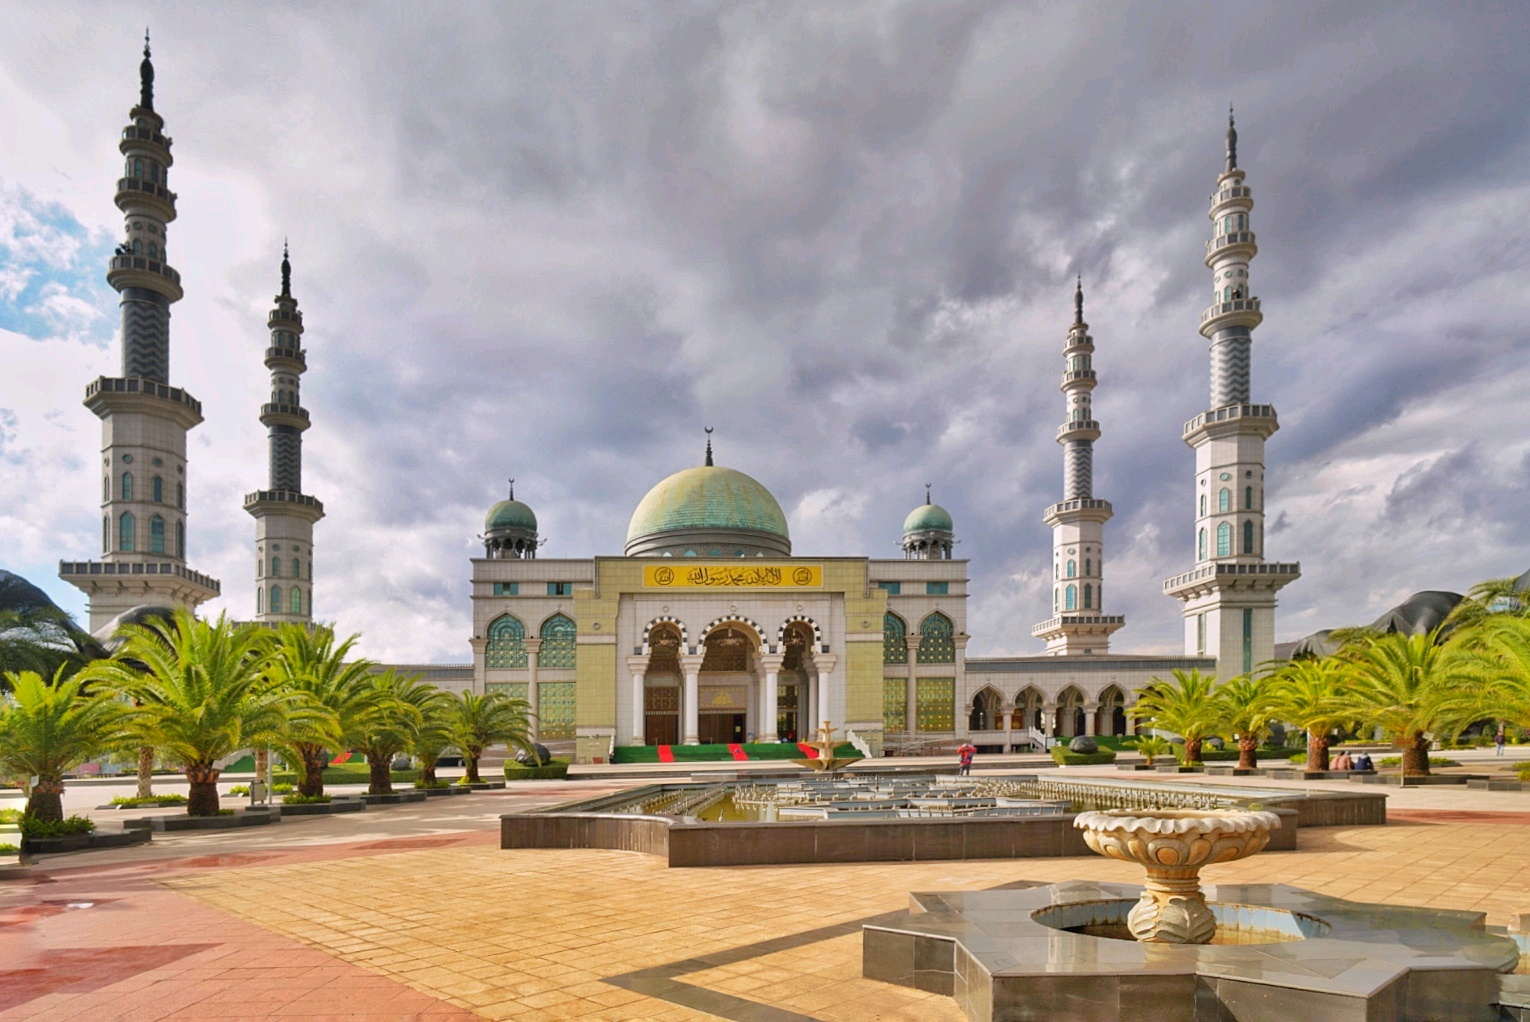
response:
M1099 857L667 869L497 846L502 812L630 783L528 783L52 857L0 883L0 1019L958 1022L947 998L860 978L861 924L910 890L1140 881ZM1530 910L1530 794L1389 794L1388 826L1307 829L1296 852L1206 878L1495 924Z

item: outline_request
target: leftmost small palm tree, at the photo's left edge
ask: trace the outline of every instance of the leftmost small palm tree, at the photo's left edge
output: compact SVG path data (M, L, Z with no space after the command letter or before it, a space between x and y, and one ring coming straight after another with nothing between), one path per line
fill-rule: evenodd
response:
M24 815L64 819L64 771L124 742L132 710L109 695L87 695L80 676L52 684L35 670L8 673L8 705L0 705L0 774L37 777Z

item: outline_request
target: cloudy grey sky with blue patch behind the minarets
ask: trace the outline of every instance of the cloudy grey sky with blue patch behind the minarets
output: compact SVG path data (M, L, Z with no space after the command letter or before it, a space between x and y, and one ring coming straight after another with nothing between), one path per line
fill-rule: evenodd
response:
M464 661L505 477L545 557L620 554L718 461L799 554L897 555L932 482L970 652L1037 652L1076 272L1117 652L1177 652L1207 193L1258 207L1278 633L1530 568L1530 12L1313 3L0 6L0 566L83 617L116 375L116 133L153 26L176 139L191 565L254 612L265 314L291 237L317 609Z

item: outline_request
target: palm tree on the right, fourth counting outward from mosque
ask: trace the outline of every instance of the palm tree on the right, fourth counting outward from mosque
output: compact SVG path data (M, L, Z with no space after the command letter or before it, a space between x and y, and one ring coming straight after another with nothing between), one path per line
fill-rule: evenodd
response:
M1431 734L1458 731L1475 718L1478 693L1463 684L1470 676L1463 646L1441 644L1438 633L1382 635L1337 655L1343 705L1403 750L1403 777L1429 774Z

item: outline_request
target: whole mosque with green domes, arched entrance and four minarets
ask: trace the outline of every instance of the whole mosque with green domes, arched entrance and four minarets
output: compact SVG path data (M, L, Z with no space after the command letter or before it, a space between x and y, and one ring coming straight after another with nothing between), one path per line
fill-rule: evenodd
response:
M139 76L119 141L125 234L107 271L121 295L122 367L86 389L86 407L103 424L101 554L60 563L60 575L89 600L93 632L145 606L196 607L220 594L220 583L187 560L187 433L202 415L168 379L170 306L182 289L168 254L171 139L155 112L147 38ZM1264 442L1278 421L1271 405L1250 398L1252 335L1262 314L1248 277L1253 194L1236 142L1229 116L1204 260L1213 298L1200 317L1210 401L1183 431L1195 450L1186 494L1195 558L1163 583L1184 607L1183 656L1111 652L1126 621L1105 603L1112 508L1092 491L1099 379L1080 282L1062 344L1063 488L1043 511L1053 529L1051 607L1031 629L1043 653L967 656L967 561L952 555L956 523L929 493L903 522L901 558L794 552L774 496L715 464L708 430L702 464L636 502L620 555L542 557L537 517L511 490L488 511L483 557L471 560L471 666L421 666L422 673L448 688L528 699L543 742L565 744L578 762L607 762L629 745L786 742L823 724L872 754L958 739L1001 751L1123 734L1132 693L1151 678L1175 669L1233 676L1271 659L1276 594L1300 569L1265 560ZM265 326L271 399L260 422L269 470L243 503L256 520L252 620L311 623L314 526L324 508L303 493L308 363L285 251ZM343 620L344 609L334 617Z

